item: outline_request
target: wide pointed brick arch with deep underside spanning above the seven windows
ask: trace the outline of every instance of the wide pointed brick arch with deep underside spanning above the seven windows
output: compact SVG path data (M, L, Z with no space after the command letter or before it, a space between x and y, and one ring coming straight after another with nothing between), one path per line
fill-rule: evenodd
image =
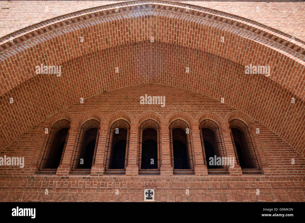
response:
M77 94L82 92L89 97L90 95L99 93L101 90L101 88L98 87L97 89L89 88L89 91L87 91L86 86L79 83L80 80L76 76L72 76L72 79L77 78L75 81L79 83L79 91L76 91L75 95L71 95L67 98L67 91L66 89L63 89L61 92L63 95L56 97L56 100L62 100L64 98L62 101L63 104L58 103L58 101L55 102L51 97L48 98L49 101L45 104L45 98L48 97L46 96L48 93L41 92L43 87L30 87L30 93L27 89L24 89L25 86L29 87L35 82L34 79L30 80L36 75L34 72L35 65L41 63L65 65L71 64L71 62L74 63L79 59L76 66L81 66L82 59L86 60L86 57L88 56L86 54L95 55L99 53L100 57L101 50L107 48L107 51L105 52L108 54L106 58L108 61L103 61L105 58L101 58L106 64L103 64L105 66L102 67L99 72L105 71L103 75L106 75L107 72L113 72L116 65L121 66L122 64L122 72L124 72L124 74L121 78L127 78L126 80L128 80L128 83L119 83L121 87L137 83L156 82L176 87L184 87L201 93L208 92L207 94L214 98L219 98L222 95L223 97L226 97L226 103L234 107L237 106L238 109L269 126L303 156L305 155L305 139L303 138L305 120L303 118L304 114L302 113L304 111L302 107L305 98L305 80L303 79L305 72L303 54L305 53L305 49L302 49L302 46L304 47L305 44L303 44L303 42L293 41L291 37L286 34L281 34L278 31L263 25L253 24L251 21L211 11L210 9L190 6L192 7L192 10L189 13L185 13L186 6L182 4L155 1L150 3L151 4L148 4L146 2L144 5L141 5L141 7L124 7L123 5L123 8L120 8L122 12L120 11L118 13L115 13L113 9L107 10L107 7L109 8L110 6L95 9L95 14L92 14L90 10L87 10L84 12L85 14L87 13L86 16L80 16L80 12L77 12L69 15L72 16L71 19L69 19L70 17L65 17L57 18L54 21L52 20L54 22L52 23L52 26L48 26L48 23L51 23L51 21L48 21L30 27L28 28L30 31L27 35L23 35L22 37L18 36L18 38L14 36L15 39L13 42L8 41L7 38L9 37L2 39L2 46L5 49L0 47L0 54L2 53L0 65L3 67L1 70L2 76L0 76L2 86L0 90L2 94L6 94L2 95L1 100L3 103L1 106L3 110L2 113L4 114L1 121L3 122L3 126L15 125L15 123L20 122L20 120L22 120L22 124L20 123L19 128L12 130L2 128L0 130L2 133L0 135L0 146L2 148L5 147L15 140L17 136L42 119L48 117L48 115L51 115L54 111L65 108L68 104L78 101ZM128 2L124 4L132 3ZM140 3L137 2L137 4ZM147 16L147 14L145 14L147 12L154 14L154 16ZM132 19L121 19L122 17L117 16L116 14L132 15L134 17L132 17ZM190 19L193 17L196 17L196 23L190 22ZM110 23L107 18L117 20L116 22ZM66 22L63 22L62 19ZM87 21L91 22L88 23ZM100 24L103 24L103 26L98 25L99 23L95 24L95 22L99 22ZM85 27L84 24L86 24ZM56 26L56 28L54 26ZM190 29L189 27L193 27L193 29ZM118 29L120 30L120 35L117 33ZM141 30L140 33L139 29ZM107 35L105 35L105 33ZM156 44L148 45L146 43L143 45L141 43L139 48L136 46L134 50L127 50L127 54L130 55L131 58L128 59L128 61L126 60L126 58L128 58L126 55L123 58L120 58L120 55L113 57L113 52L116 52L116 54L125 54L125 47L130 48L130 44L133 44L134 46L137 43L140 44L140 41L142 40L147 41L150 39L152 33L153 35L156 35ZM21 33L13 35L17 34L22 35ZM224 35L226 41L223 44L220 44L220 37L222 35ZM84 36L86 41L81 43L79 41L80 36ZM107 38L109 37L108 41L104 41L106 36ZM126 36L128 36L128 38L125 38ZM21 39L23 41L21 41ZM48 40L46 41L46 39ZM265 41L268 41L268 44L265 44ZM125 46L121 45L126 42L129 44L127 43ZM172 54L170 47L167 47L164 50L163 46L158 44L158 42L164 42L162 44L174 44L170 45L170 47L174 48L175 53ZM184 55L182 53L176 53L177 51L183 51L186 49L185 47L191 47L192 50ZM94 53L91 53L92 51L94 51ZM210 53L207 54L205 58L201 57L205 54L203 53L204 51ZM168 59L171 58L168 58L167 55L170 54L174 56L179 55L179 57L176 58L178 61L175 63L168 61ZM86 56L82 58L81 55ZM144 57L144 55L146 55L146 57ZM145 60L143 60L142 57L145 58ZM167 58L167 60L164 60L163 57ZM222 59L224 58L236 62L238 66L249 65L250 63L267 64L270 65L272 74L266 79L261 78L261 75L257 75L256 77L260 79L261 83L258 83L257 80L251 80L251 85L247 83L249 79L240 78L239 76L232 79L229 75L228 78L230 81L228 82L226 79L222 79L222 76L218 76L221 74L218 71L223 73L231 72L228 71L228 66L223 66L221 64ZM203 60L199 63L198 61L200 59ZM204 59L208 61L217 61L217 67L210 66ZM180 65L180 61L184 62L182 66ZM88 68L83 67L82 71L90 73L93 67L98 65L99 62L95 60L93 64L93 66L92 64L88 65ZM235 63L232 63L230 69L235 70L235 65ZM186 75L185 78L184 69L186 66L191 68L191 72L189 75ZM202 68L202 66L204 66L204 68ZM207 67L208 69L212 69L212 73L208 72L202 74L201 72L205 71ZM222 69L220 69L220 67L222 67ZM69 73L72 72L72 69L75 68L73 67L70 70L64 70L64 75L70 75ZM244 73L240 66L239 69L239 74ZM172 71L174 71L174 73L171 73ZM78 69L77 72L81 71ZM81 72L81 74L83 72ZM163 72L164 76L157 76L160 72ZM213 72L216 72L216 74L214 75ZM147 76L149 73L152 73L152 76ZM143 74L146 76L144 77ZM177 77L176 79L178 82L173 81L175 79L169 80L168 77L172 75L177 75L175 77ZM203 75L207 76L203 77ZM211 76L217 76L218 79L210 82L209 79ZM147 77L150 79L147 80ZM74 80L71 78L65 80L65 84L71 83L74 86ZM99 79L99 76L95 79ZM107 76L105 77L105 81L99 80L99 84L103 85L107 90L110 90L116 88L118 84L117 81L120 82L123 79L114 81L115 79ZM197 79L199 80L198 82L194 81ZM240 81L239 79L244 82L241 81L236 83L235 81ZM264 83L265 80L267 80L267 83ZM270 82L269 80L272 80L273 82ZM59 84L60 81L61 79L57 79L56 85ZM94 79L92 81L94 81ZM213 83L213 87L210 86L210 83ZM226 86L227 90L223 91L224 85L228 83L230 85ZM45 84L45 82L42 84ZM240 94L238 84L248 87L243 87L245 90L243 94ZM283 88L278 87L277 84ZM95 83L94 86L97 87ZM262 86L265 92L261 91ZM234 87L237 87L235 88L236 93L231 94L231 88ZM81 90L82 88L84 88L84 91ZM34 92L36 89L37 92ZM289 91L286 91L286 89ZM43 91L44 90L45 89L43 89ZM93 90L93 92L91 92L91 90ZM248 98L244 96L249 94L249 92L251 92L250 98L253 101L251 101L250 104L247 104ZM28 94L31 94L31 96L29 97ZM16 100L15 102L17 102L17 105L8 103L10 97L13 97ZM296 99L296 104L290 103L292 97ZM33 100L36 102L35 104L32 103ZM237 103L241 101L244 103ZM253 103L257 106L252 106ZM20 106L21 104L22 106ZM36 106L38 104L39 106ZM247 104L247 107L243 107L245 104ZM260 106L261 104L264 104L264 106ZM284 107L282 107L283 104L285 105ZM270 110L268 107L270 105L272 105L273 110ZM46 109L47 107L48 109ZM281 110L282 108L284 108L283 111ZM33 112L37 109L42 110L38 113ZM278 112L280 110L281 112ZM291 112L291 110L293 110L293 112ZM270 112L275 112L278 116L273 118L273 116L270 115L261 115L269 114ZM299 131L301 132L300 134Z

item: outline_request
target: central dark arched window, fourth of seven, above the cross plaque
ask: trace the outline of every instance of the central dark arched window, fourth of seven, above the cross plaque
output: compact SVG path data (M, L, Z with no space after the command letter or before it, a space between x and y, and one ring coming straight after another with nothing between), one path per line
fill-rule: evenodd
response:
M140 126L139 173L160 172L160 135L157 122L149 119Z

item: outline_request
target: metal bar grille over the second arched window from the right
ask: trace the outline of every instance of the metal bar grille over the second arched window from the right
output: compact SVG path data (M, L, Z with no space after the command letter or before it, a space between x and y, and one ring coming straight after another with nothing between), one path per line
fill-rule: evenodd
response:
M214 126L217 126L217 127L211 127L211 126L202 126L202 123L205 122L206 120L208 120L209 122L212 122ZM206 162L208 162L209 159L206 159L206 151L205 151L205 147L204 147L204 138L203 138L203 129L211 129L211 131L215 134L216 132L216 137L217 137L217 141L218 141L218 144L219 146L221 147L221 158L222 157L225 157L225 153L224 153L224 146L223 146L223 143L222 143L222 138L221 138L221 134L220 134L220 130L219 130L219 127L217 125L216 122L210 120L210 119L206 119L206 120L203 120L199 127L200 127L200 140L201 140L201 148L202 148L202 153L203 153L203 160L204 160L204 164L206 164ZM214 142L216 143L216 142ZM212 144L213 146L213 144ZM213 149L215 149L213 147ZM208 166L208 165L207 165ZM224 165L223 167L221 168L208 168L208 172L211 172L211 173L227 173L228 172L228 168L227 168L227 165Z

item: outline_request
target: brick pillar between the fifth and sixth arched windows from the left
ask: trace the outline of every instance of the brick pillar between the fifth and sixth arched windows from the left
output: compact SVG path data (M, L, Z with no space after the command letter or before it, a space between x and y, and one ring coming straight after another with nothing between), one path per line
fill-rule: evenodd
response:
M208 169L204 165L204 158L202 153L202 145L200 139L200 129L199 125L193 125L191 131L193 139L193 149L194 149L194 158L195 158L195 175L197 176L208 176Z

